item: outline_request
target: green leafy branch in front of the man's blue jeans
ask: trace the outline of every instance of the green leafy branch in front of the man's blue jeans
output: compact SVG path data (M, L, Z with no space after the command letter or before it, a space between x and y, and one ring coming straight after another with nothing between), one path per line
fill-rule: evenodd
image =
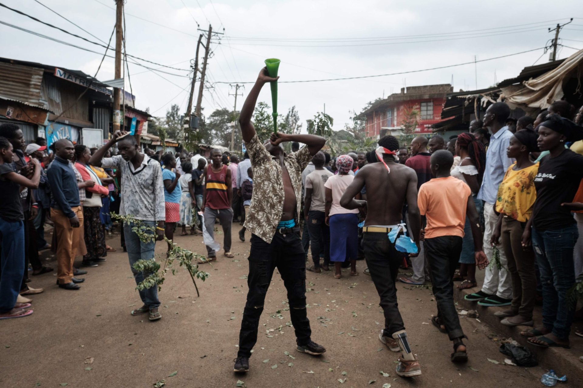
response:
M142 243L152 243L153 241L156 241L156 227L147 226L142 220L136 219L132 215L122 216L111 213L111 218L124 223L133 224L134 226L132 226L132 232L138 236ZM166 273L170 271L172 275L176 275L178 272L178 268L175 268L174 266L175 262L177 262L178 267L187 270L192 279L192 284L194 284L196 289L196 295L201 296L201 294L198 292L198 287L196 286L195 277L196 279L200 279L204 282L206 278L209 277L209 273L199 270L198 264L196 264L196 262L198 260L206 262L206 257L181 248L175 244L174 241L168 240L166 236L164 236L164 241L166 241L166 243L168 243L171 248L168 250L168 252L166 252L163 268L159 262L156 262L156 256L162 257L163 254L154 255L154 259L140 259L134 263L133 267L135 270L142 271L143 273L147 274L146 278L142 280L142 282L138 283L138 285L136 285L136 290L142 291L157 286L158 291L160 291L160 286L166 279Z

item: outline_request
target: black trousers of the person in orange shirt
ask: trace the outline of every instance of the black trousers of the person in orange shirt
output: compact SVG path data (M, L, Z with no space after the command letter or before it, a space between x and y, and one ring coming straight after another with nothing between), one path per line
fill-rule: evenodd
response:
M437 316L441 324L445 326L450 340L465 337L454 305L454 280L452 280L462 252L462 238L440 236L425 239L424 248L431 268L431 283L437 302Z

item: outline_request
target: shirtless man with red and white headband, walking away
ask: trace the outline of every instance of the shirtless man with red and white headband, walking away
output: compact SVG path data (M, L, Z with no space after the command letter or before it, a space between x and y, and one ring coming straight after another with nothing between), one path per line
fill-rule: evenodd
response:
M395 280L399 265L403 262L403 253L398 252L395 243L387 237L387 233L403 223L403 203L407 200L409 236L417 244L419 252L421 217L417 207L417 175L412 168L399 164L396 157L399 141L394 136L382 137L378 145L377 157L382 155L383 163L370 163L360 169L340 198L340 205L346 209L367 208L363 227L364 256L385 314L385 329L381 330L379 339L389 350L402 352L396 366L399 376L417 376L421 374L421 368L407 340L397 306ZM367 201L354 200L365 185Z

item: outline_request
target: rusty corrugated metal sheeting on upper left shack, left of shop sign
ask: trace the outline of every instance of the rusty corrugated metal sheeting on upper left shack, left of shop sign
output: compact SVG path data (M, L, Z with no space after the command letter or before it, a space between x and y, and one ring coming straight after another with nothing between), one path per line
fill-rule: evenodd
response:
M48 109L40 93L43 73L38 67L0 62L0 94L6 99Z

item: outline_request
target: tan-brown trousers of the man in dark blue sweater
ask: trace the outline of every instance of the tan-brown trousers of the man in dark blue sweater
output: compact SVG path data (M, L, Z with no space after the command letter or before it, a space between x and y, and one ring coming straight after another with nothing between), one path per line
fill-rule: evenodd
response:
M79 218L79 227L72 227L68 216L60 210L51 208L51 219L55 224L54 233L57 234L57 279L59 284L71 283L75 256L86 253L83 241L83 209L79 206L71 208L71 210Z

